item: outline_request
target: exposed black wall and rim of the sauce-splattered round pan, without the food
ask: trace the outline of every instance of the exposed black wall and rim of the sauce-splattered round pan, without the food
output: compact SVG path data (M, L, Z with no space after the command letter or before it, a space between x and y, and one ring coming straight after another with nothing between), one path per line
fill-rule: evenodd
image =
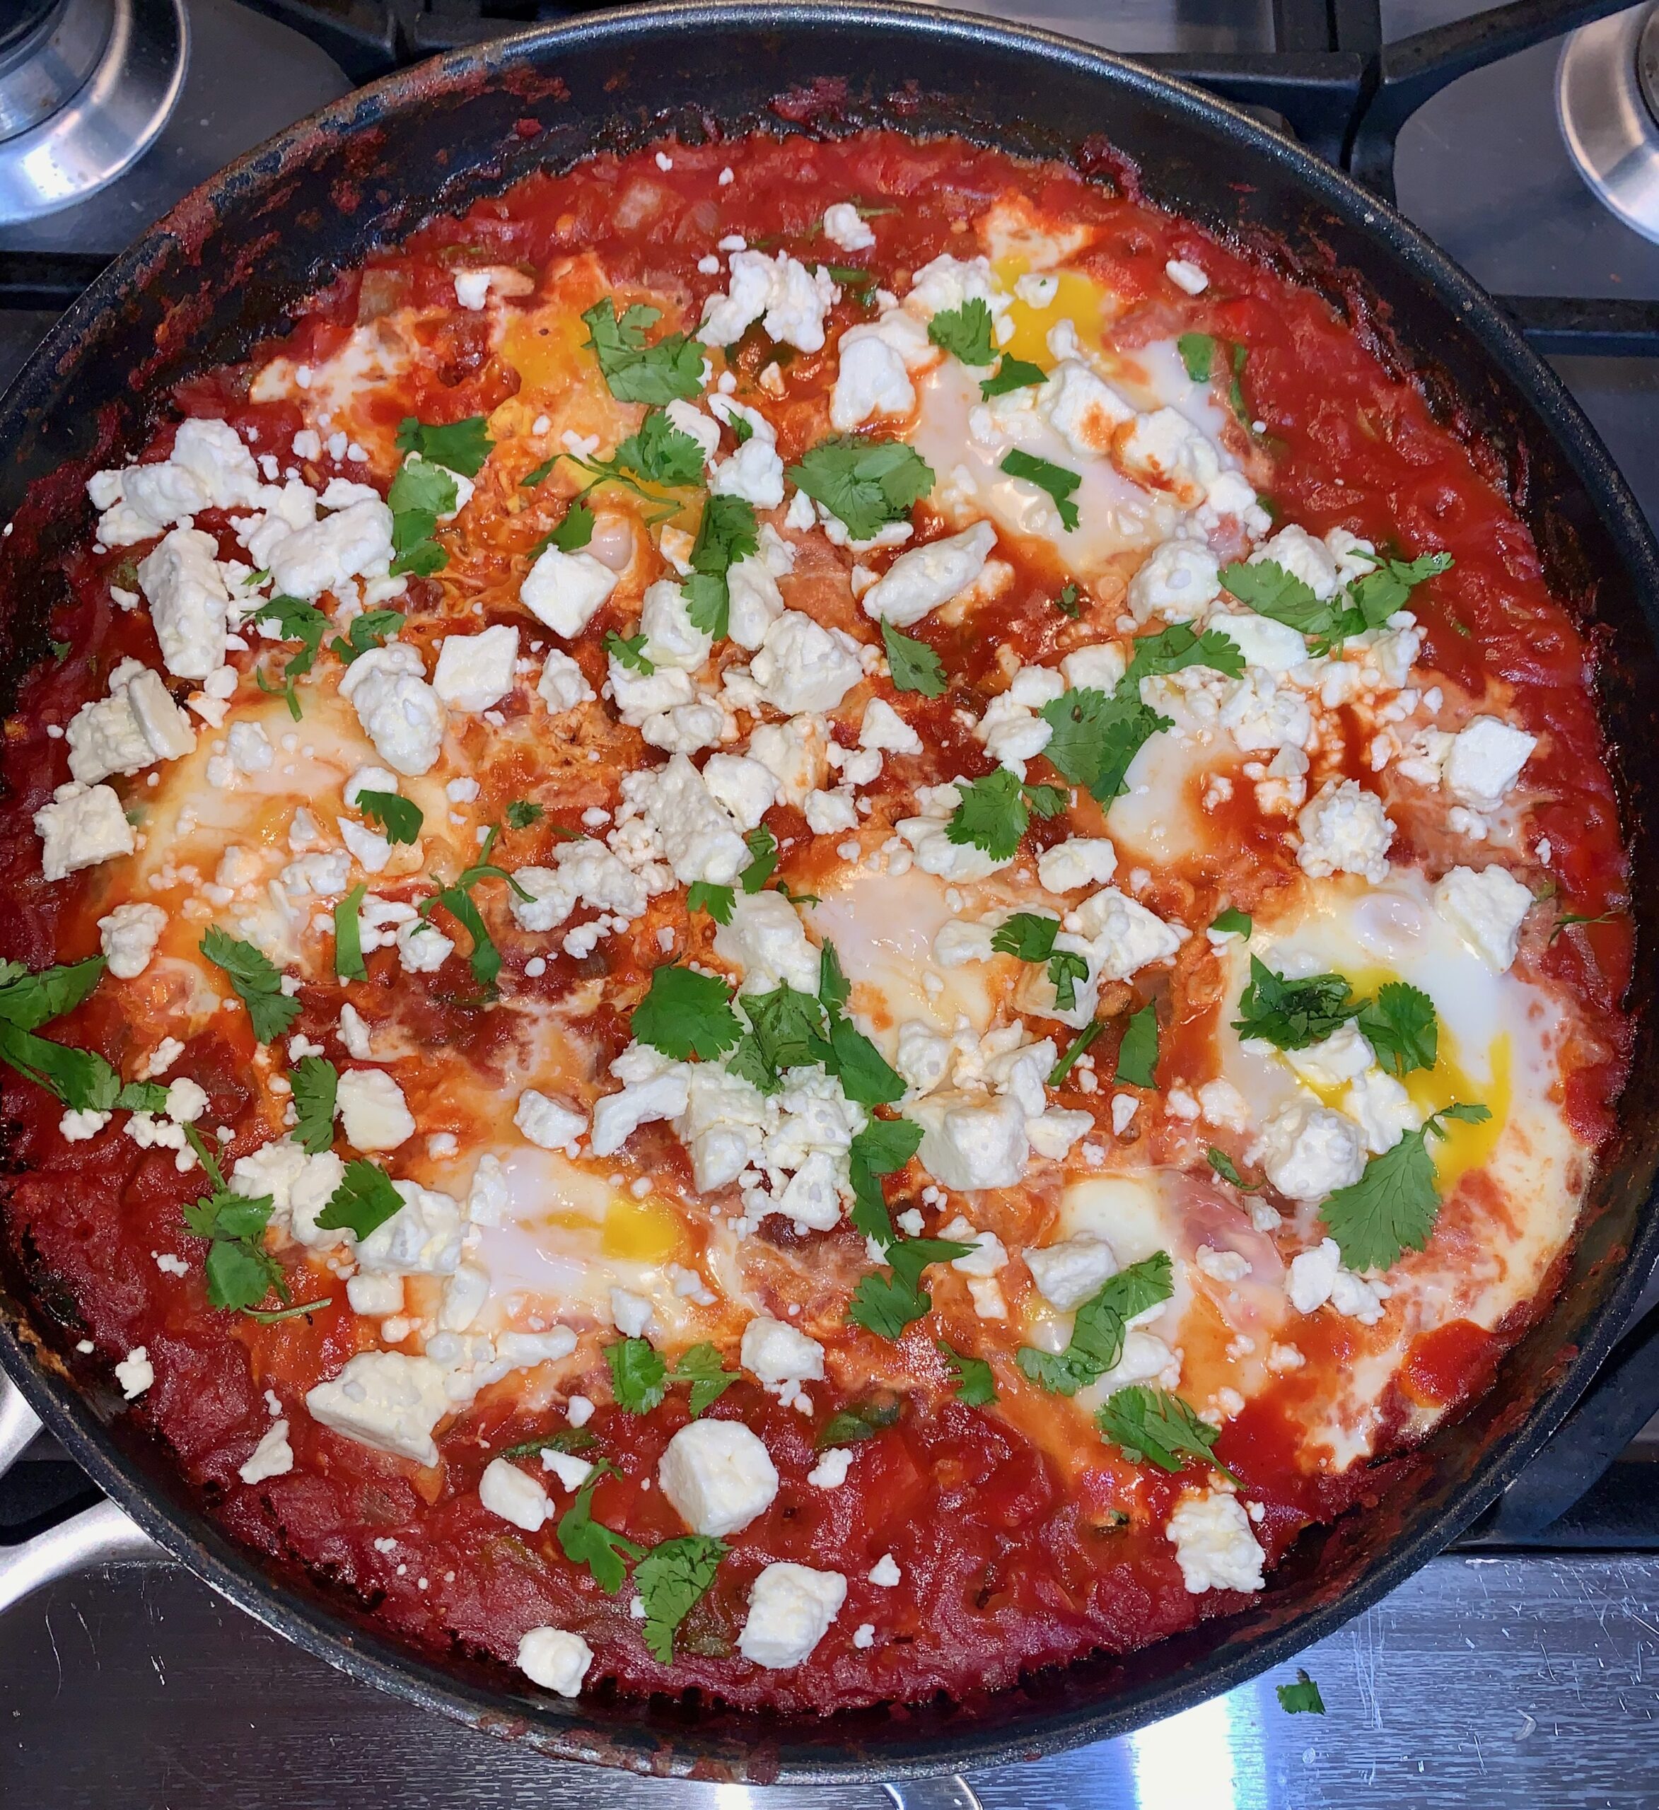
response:
M958 1772L1125 1734L1282 1663L1440 1551L1521 1470L1610 1348L1659 1243L1646 1211L1659 1120L1643 1111L1659 1073L1659 860L1646 831L1659 548L1561 384L1456 266L1344 176L1194 89L1063 38L898 5L643 7L391 76L199 188L71 308L0 405L0 518L62 465L89 471L134 449L168 386L246 353L283 328L295 299L435 212L670 129L695 139L878 123L964 132L1094 174L1132 167L1148 199L1261 246L1351 306L1485 449L1599 650L1634 838L1635 1070L1559 1296L1498 1386L1434 1435L1378 1508L1311 1529L1242 1615L960 1705L784 1721L603 1694L563 1703L525 1692L505 1667L418 1656L228 1540L167 1455L129 1430L109 1383L74 1359L42 1278L5 1280L5 1368L96 1482L232 1602L417 1703L639 1772L759 1783ZM82 530L85 505L76 512L69 489L60 498ZM9 679L45 652L43 612L60 583L49 559L0 550Z

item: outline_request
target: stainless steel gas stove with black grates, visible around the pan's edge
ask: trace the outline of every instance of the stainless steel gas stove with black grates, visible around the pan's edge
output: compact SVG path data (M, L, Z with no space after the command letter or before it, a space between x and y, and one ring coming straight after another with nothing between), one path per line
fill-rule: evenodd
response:
M958 4L1188 76L1396 199L1550 357L1659 525L1659 5ZM355 83L574 11L0 0L0 380L116 250L232 157ZM1650 1283L1590 1405L1482 1526L1304 1654L1324 1718L1288 1716L1273 1687L1290 1678L1268 1676L1125 1741L886 1788L639 1781L373 1694L156 1562L114 1510L74 1520L96 1491L0 1397L0 1803L1652 1806L1655 1300ZM82 1531L54 1531L71 1524ZM105 1562L29 1593L36 1567L56 1567L54 1542Z

